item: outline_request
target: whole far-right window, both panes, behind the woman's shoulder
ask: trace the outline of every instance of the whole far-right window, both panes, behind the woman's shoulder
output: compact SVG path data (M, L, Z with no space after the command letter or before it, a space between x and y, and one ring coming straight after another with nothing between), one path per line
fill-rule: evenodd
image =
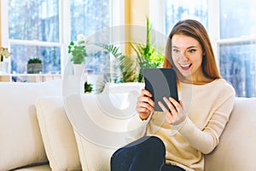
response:
M219 69L239 97L256 96L255 5L252 0L219 2Z

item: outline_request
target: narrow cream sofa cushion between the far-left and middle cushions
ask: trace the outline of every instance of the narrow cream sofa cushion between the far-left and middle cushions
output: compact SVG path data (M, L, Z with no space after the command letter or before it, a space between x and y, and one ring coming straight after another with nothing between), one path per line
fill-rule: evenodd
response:
M82 170L79 151L64 110L62 97L42 97L36 101L38 123L52 170Z

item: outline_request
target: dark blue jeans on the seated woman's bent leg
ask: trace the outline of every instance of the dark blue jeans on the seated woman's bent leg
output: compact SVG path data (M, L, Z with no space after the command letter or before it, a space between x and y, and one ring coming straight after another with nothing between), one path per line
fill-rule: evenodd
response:
M111 171L183 171L166 164L166 147L155 136L145 136L113 153Z

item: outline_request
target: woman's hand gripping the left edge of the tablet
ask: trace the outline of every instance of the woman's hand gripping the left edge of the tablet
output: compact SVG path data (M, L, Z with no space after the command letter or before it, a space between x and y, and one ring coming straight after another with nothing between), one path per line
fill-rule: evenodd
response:
M154 101L150 98L152 94L146 89L142 89L141 96L137 98L137 113L142 120L148 119L154 111Z

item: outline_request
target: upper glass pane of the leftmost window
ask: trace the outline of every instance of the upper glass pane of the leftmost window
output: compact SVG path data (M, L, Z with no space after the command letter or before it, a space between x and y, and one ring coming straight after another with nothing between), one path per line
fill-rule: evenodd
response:
M9 0L9 38L59 42L59 1Z

